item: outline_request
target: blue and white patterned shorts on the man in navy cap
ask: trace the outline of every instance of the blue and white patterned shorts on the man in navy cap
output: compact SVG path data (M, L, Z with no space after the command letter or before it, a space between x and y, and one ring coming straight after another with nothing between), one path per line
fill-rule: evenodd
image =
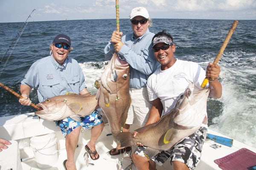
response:
M98 111L93 111L91 114L81 117L81 121L77 122L70 117L67 117L63 120L56 122L57 125L61 128L61 132L64 137L67 136L73 129L76 127L83 127L85 130L90 129L93 126L103 123L102 115Z

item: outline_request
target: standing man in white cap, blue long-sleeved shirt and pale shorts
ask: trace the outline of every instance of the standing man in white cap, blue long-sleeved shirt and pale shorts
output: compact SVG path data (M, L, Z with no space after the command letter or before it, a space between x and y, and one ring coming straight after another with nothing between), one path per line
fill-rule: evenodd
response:
M129 131L133 123L140 127L145 125L151 108L146 82L160 65L152 50L151 40L154 34L148 30L151 26L148 11L143 7L132 9L130 21L133 32L122 36L122 32L113 31L111 40L104 49L106 59L111 59L113 53L117 52L130 65L131 106L123 131ZM110 154L117 155L125 150L129 151L131 147L121 150L114 148Z

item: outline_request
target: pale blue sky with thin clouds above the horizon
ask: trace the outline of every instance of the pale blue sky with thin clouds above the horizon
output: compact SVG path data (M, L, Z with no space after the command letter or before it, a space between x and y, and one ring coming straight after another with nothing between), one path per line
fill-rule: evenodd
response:
M0 0L0 23L115 19L116 0ZM119 18L143 6L150 18L256 20L256 0L119 0Z

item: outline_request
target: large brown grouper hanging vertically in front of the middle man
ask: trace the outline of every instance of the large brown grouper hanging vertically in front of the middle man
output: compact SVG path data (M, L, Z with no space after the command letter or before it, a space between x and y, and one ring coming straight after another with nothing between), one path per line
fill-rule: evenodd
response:
M108 119L114 138L122 132L131 105L129 69L129 64L114 53L102 73L96 94L99 107Z

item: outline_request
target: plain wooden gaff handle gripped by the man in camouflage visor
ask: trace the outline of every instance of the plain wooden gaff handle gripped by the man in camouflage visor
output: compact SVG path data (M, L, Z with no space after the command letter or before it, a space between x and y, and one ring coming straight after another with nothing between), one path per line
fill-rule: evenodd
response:
M237 23L238 23L238 20L235 20L234 23L233 23L233 25L231 26L230 31L227 33L227 36L226 36L226 38L225 38L223 44L221 45L221 48L220 48L220 50L218 51L217 56L215 57L215 59L214 59L214 61L213 61L213 64L217 64L217 63L218 63L218 60L221 58L221 55L223 54L223 52L224 52L224 50L225 50L225 48L226 48L226 46L227 46L227 43L229 42L229 40L230 40L230 38L231 38L233 32L235 31L235 28L236 28L236 26L237 26ZM205 88L205 86L207 85L208 81L209 81L209 78L208 78L208 77L205 77L204 81L203 81L202 84L201 84L201 87L202 87L202 88Z

